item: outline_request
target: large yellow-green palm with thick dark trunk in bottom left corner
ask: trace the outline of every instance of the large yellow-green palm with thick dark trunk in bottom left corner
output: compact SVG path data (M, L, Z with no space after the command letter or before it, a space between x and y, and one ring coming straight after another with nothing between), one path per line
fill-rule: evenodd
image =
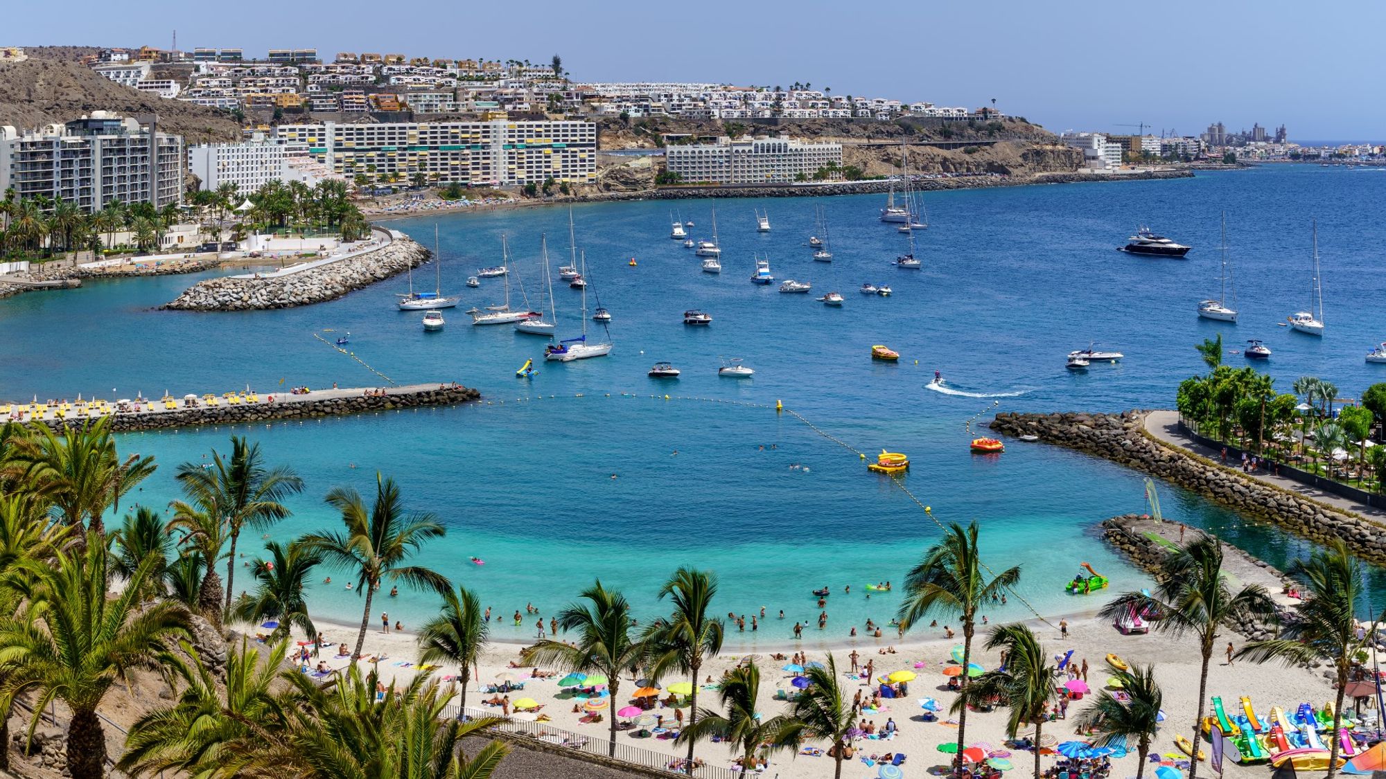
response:
M147 557L125 590L108 597L109 554L105 541L91 531L85 549L35 567L24 609L0 620L0 667L10 669L0 682L0 711L35 692L33 728L50 701L62 700L72 710L67 760L73 779L105 773L105 735L96 714L105 693L134 667L152 661L165 640L188 633L188 614L180 604L140 606L139 593L152 570L154 559Z

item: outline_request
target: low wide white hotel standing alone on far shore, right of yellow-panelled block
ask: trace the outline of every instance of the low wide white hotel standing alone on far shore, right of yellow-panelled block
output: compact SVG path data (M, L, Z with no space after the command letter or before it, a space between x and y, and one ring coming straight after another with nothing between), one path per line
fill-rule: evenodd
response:
M790 139L717 139L717 143L671 146L668 169L687 183L779 184L841 166L843 144Z

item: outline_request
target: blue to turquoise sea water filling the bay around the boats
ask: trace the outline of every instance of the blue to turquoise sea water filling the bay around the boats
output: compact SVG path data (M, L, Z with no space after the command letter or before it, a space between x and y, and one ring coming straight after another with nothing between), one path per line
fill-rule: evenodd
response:
M463 309L500 302L502 291L496 279L480 290L463 281L500 262L505 233L511 283L523 279L538 306L541 236L549 237L554 268L568 259L561 208L392 223L426 244L438 227L444 288L464 298L445 312L448 327L438 334L424 334L417 313L394 309L403 277L330 304L226 315L154 310L195 280L188 276L19 295L0 301L0 396L376 385L376 376L313 338L351 331L355 353L395 381L460 381L486 401L130 434L122 446L164 463L136 499L165 506L176 496L173 464L245 434L270 462L291 463L308 481L292 500L294 517L272 531L276 538L333 525L323 493L353 485L369 495L380 471L401 481L412 507L434 511L449 529L421 560L475 586L500 613L528 602L552 613L600 577L653 614L663 609L654 599L663 578L694 564L721 575L719 609L750 615L766 607L771 621L754 636L762 640L789 636L775 620L780 609L787 621L816 618L808 590L830 585L839 595L823 638L841 640L848 614L852 622L893 614L898 595L868 602L861 585L898 582L938 528L884 477L868 474L855 453L776 414L776 401L857 450L908 453L906 484L934 517L981 523L990 564L1020 564L1024 597L1062 613L1095 606L1062 592L1080 561L1112 575L1117 588L1143 582L1094 531L1109 516L1145 510L1142 477L1020 442L999 457L972 456L970 419L984 421L995 410L1168 408L1177 384L1202 370L1193 344L1217 333L1229 349L1264 340L1274 356L1258 367L1286 391L1301 374L1335 381L1347 398L1386 381L1386 366L1362 360L1386 340L1378 236L1386 170L1278 165L1167 182L930 193L924 202L930 229L916 234L923 270L890 265L905 237L877 222L879 195L575 207L592 281L588 305L600 299L611 309L615 349L604 359L542 363L529 380L514 371L541 358L543 340L470 326ZM818 205L830 229L830 265L812 262L805 245ZM693 237L710 237L714 207L721 276L701 273L692 250L668 238L674 209L696 222ZM755 208L769 211L771 233L755 231ZM1217 292L1224 211L1238 324L1195 313L1198 301ZM1310 302L1313 218L1324 338L1278 326ZM1138 225L1195 248L1186 261L1114 251ZM811 281L814 294L751 284L757 255L769 258L778 279ZM431 286L431 266L414 280ZM888 283L894 295L858 294L863 281ZM833 288L847 297L841 309L815 302ZM517 286L511 294L518 305ZM554 295L563 335L577 334L581 295L565 284ZM681 313L689 308L715 322L685 327ZM1125 359L1084 374L1064 370L1064 355L1094 341ZM900 363L872 362L873 344L897 349ZM723 356L743 358L754 378L719 377ZM647 378L656 360L674 362L682 378ZM926 388L934 370L951 392ZM1303 550L1274 528L1174 487L1161 485L1161 498L1166 516L1211 528L1274 564ZM470 564L471 556L485 566ZM358 593L340 589L345 578L333 572L334 584L313 593L322 615L359 618ZM237 589L241 584L248 577ZM845 584L852 595L844 599ZM1386 579L1378 584L1386 592ZM406 592L384 609L409 627L432 602ZM1006 614L1026 613L1013 599Z

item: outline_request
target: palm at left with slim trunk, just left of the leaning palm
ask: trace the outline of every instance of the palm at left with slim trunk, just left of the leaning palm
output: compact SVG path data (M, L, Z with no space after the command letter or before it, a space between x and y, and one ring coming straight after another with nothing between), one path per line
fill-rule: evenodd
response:
M177 467L177 481L183 492L202 505L215 505L226 523L229 546L226 550L226 604L222 618L231 614L231 593L236 592L236 543L241 528L249 525L265 529L290 514L283 500L304 491L304 480L288 466L265 467L259 444L248 444L245 437L231 437L231 456L223 459L212 449L211 463L183 463ZM211 467L202 467L209 464Z

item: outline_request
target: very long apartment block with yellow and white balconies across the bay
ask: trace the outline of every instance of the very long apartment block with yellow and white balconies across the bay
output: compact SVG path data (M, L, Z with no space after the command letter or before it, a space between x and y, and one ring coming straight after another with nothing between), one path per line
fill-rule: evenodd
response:
M333 173L369 182L524 186L547 179L596 179L597 129L592 122L507 119L280 125L284 143L308 144Z

